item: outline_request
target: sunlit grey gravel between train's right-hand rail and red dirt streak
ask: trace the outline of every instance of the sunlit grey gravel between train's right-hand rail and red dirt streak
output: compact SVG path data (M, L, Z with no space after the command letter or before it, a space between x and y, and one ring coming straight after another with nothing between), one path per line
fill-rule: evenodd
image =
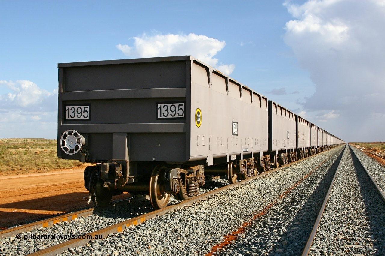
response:
M203 201L145 221L103 240L71 248L63 255L202 255L235 231L254 213L275 202L280 194L329 157L336 148L223 191ZM234 254L233 254L234 255Z

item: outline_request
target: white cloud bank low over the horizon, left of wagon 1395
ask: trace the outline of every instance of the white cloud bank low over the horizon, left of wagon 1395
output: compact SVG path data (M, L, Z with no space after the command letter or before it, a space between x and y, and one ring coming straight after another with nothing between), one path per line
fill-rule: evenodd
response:
M52 138L57 130L57 90L49 92L28 80L1 80L1 87L6 91L0 95L1 138Z

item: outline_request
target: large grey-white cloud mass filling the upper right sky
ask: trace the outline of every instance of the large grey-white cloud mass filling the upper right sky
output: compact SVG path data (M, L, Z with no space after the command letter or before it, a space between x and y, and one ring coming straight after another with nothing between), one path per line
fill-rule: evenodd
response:
M310 72L316 86L315 93L302 103L303 109L308 113L318 112L315 119L319 121L343 119L340 131L348 131L347 135L355 136L362 129L354 127L365 123L374 113L385 125L384 3L383 0L284 3L294 18L286 23L284 41L293 50L300 67Z

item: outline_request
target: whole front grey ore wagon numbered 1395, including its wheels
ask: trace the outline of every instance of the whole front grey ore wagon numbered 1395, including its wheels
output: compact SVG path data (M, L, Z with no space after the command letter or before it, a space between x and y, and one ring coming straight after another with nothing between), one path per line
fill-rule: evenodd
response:
M84 178L99 205L129 191L163 208L196 195L205 168L234 176L268 150L267 99L194 57L58 67L58 157L95 163Z

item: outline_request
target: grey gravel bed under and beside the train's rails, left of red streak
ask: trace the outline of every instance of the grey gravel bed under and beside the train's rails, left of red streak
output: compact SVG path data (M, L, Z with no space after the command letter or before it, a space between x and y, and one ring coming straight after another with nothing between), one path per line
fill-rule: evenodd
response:
M280 194L316 168L320 162L333 165L341 147L323 152L295 165L286 166L241 186L231 188L190 206L132 226L126 231L90 241L86 246L71 248L63 255L201 255L237 230L254 213L279 199ZM325 163L326 164L326 163ZM318 170L321 170L319 168ZM315 173L318 173L318 170ZM324 171L327 173L327 171ZM310 175L311 176L311 175ZM305 184L309 178L305 179ZM227 185L227 180L221 182ZM286 196L286 198L290 195ZM288 204L290 207L290 204ZM152 210L149 200L99 212L99 216L79 218L50 228L31 231L35 234L85 234ZM98 219L98 220L95 220ZM280 223L278 223L280 224ZM293 223L292 228L295 228ZM294 230L294 229L293 229ZM289 241L287 239L285 241ZM0 254L20 255L43 249L62 241L7 238L1 241ZM285 245L286 242L283 242ZM294 243L294 241L293 241ZM273 244L273 243L272 243ZM222 252L224 253L224 252Z

